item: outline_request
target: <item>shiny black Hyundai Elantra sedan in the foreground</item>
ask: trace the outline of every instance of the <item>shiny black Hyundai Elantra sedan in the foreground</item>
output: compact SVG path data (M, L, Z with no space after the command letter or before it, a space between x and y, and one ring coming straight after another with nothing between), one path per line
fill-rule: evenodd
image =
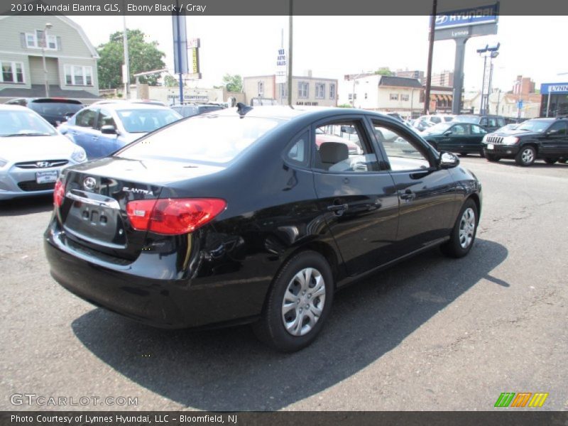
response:
M158 327L252 323L295 351L342 286L434 246L465 256L481 184L382 114L239 104L67 168L54 202L45 252L72 293Z

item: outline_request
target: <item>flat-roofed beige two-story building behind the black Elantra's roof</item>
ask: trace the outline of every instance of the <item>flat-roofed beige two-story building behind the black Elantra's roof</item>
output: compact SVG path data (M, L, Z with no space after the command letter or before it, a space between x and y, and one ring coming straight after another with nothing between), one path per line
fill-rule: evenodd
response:
M246 104L254 98L275 99L280 105L288 104L288 83L276 83L276 75L244 77ZM317 107L337 107L337 79L305 76L292 77L292 104Z

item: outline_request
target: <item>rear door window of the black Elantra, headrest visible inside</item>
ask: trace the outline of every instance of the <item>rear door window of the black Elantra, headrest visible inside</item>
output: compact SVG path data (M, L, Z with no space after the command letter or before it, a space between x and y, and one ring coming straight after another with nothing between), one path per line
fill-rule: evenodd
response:
M331 121L315 129L315 165L329 173L378 171L376 154L358 120Z

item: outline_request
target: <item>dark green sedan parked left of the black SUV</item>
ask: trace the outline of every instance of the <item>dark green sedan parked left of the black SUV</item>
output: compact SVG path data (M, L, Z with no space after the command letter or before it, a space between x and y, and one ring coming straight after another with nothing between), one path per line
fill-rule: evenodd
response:
M484 136L487 131L477 124L440 123L422 131L422 137L434 148L467 155L476 153L484 156Z

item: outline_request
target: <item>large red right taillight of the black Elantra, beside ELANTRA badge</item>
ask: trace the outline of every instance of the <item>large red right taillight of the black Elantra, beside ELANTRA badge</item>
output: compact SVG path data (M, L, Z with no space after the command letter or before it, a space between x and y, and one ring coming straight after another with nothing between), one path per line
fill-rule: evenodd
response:
M207 224L225 207L225 200L219 198L136 200L126 204L126 214L138 231L178 235Z

